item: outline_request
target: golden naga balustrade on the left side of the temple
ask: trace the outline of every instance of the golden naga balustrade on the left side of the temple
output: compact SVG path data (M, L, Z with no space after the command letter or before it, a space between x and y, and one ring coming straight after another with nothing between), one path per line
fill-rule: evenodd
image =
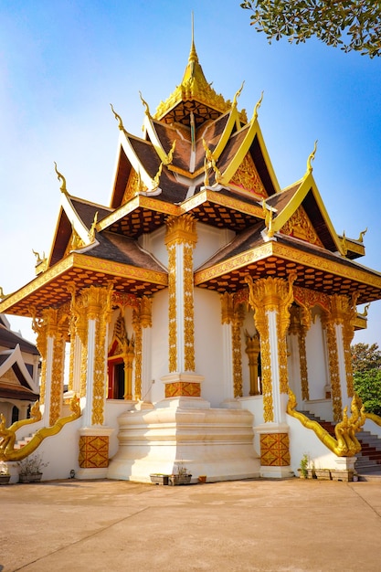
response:
M80 417L79 397L75 396L70 401L71 415L59 418L51 427L43 427L38 429L32 439L21 449L15 449L16 430L28 425L36 423L41 419L38 401L31 409L32 418L16 421L9 428L5 428L5 417L1 415L0 420L0 461L21 461L28 455L37 450L37 447L47 437L57 435L64 425L78 419Z

